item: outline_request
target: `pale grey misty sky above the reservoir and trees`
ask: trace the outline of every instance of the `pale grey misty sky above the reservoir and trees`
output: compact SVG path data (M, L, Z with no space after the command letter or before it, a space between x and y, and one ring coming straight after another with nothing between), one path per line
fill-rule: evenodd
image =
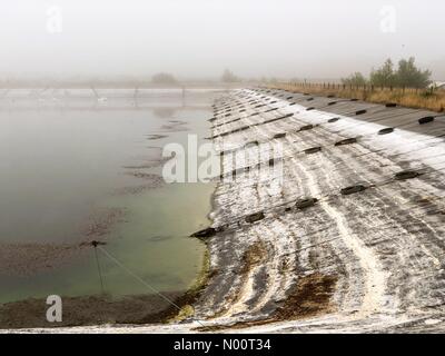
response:
M443 0L1 0L0 76L339 78L415 56L445 80L444 16Z

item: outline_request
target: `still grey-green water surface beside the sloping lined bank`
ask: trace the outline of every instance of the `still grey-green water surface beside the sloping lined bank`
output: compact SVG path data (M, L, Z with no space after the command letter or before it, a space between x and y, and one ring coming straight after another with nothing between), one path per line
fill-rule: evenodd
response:
M166 185L161 148L208 131L215 92L13 90L0 100L0 303L100 293L105 248L161 290L184 290L211 184ZM147 289L100 256L111 296Z

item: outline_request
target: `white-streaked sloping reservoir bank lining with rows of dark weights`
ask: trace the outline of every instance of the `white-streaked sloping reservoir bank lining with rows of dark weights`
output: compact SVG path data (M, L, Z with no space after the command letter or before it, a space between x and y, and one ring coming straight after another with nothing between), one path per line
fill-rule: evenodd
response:
M445 117L310 98L245 89L216 102L212 139L235 179L215 194L201 330L445 332ZM271 147L281 156L261 169L230 165Z

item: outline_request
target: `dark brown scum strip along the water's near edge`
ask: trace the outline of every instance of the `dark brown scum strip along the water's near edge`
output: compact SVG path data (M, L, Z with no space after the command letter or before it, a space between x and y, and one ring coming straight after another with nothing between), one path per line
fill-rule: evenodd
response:
M0 333L8 329L20 332L39 327L58 329L107 326L110 323L115 327L180 323L190 317L192 319L192 306L205 289L208 277L209 254L206 247L201 269L191 286L184 291L161 291L181 310L177 310L157 294L128 295L116 298L108 295L63 297L63 313L68 317L61 324L55 325L47 323L41 317L46 309L44 298L27 298L0 305ZM21 315L21 318L17 317L18 314ZM98 323L98 319L101 323Z

